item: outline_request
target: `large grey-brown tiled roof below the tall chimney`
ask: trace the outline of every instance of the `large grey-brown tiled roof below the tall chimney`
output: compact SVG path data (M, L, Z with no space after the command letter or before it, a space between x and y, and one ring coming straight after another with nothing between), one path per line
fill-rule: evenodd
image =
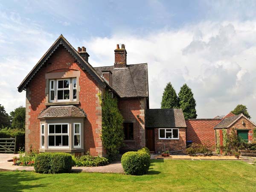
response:
M103 71L111 71L112 87L122 98L148 97L148 64L131 64L125 68L94 67L102 76Z

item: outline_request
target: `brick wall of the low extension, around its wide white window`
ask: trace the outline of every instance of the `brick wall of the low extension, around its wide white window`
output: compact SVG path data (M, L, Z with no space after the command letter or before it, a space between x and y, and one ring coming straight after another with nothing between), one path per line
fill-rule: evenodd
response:
M159 139L159 129L154 129L154 137L155 137L155 151L163 152L164 145L166 150L169 151L178 151L177 154L184 154L186 150L186 128L179 128L179 140L160 140Z

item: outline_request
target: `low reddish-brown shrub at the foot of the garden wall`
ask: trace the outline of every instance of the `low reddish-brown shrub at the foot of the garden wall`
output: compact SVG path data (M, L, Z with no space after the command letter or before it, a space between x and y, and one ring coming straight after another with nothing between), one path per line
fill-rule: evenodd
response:
M189 145L189 148L186 149L186 154L204 154L205 156L212 155L212 148L208 147L207 145L192 143L191 145Z

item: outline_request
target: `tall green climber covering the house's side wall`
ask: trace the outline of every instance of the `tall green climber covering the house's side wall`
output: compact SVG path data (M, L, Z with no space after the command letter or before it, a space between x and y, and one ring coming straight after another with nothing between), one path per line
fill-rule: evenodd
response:
M101 98L101 96L99 96ZM117 100L105 93L102 101L102 145L108 159L115 160L119 148L123 145L123 117L117 107Z

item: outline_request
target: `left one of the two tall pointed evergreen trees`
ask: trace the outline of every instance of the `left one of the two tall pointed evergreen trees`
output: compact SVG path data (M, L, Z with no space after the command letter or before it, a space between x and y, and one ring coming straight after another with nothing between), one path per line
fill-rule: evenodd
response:
M161 108L170 109L178 108L179 102L175 89L172 87L171 82L169 82L163 92Z

